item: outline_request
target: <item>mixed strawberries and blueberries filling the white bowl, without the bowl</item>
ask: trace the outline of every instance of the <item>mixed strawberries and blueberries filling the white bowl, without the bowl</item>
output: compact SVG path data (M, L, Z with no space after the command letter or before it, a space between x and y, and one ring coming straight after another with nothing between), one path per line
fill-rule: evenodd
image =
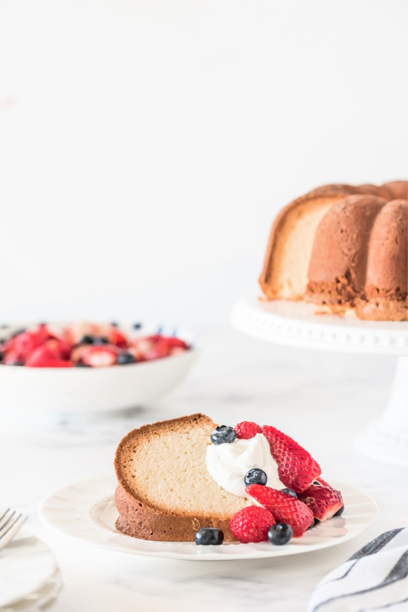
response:
M0 364L33 368L109 367L184 353L191 346L177 335L143 333L135 324L125 332L116 324L77 321L40 323L0 337Z

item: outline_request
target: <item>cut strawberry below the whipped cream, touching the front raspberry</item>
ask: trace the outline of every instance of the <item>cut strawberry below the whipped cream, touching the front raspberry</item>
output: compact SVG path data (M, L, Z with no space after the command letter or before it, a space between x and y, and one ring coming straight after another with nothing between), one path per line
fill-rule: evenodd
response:
M245 487L245 491L258 504L272 512L278 523L290 525L294 537L303 535L313 523L314 517L311 509L292 495L265 487L265 485L250 485Z

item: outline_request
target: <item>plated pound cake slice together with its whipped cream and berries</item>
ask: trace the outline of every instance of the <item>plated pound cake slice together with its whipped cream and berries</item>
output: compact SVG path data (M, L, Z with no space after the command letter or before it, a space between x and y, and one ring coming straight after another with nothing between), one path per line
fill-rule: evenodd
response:
M144 425L114 465L116 527L145 540L283 544L343 512L317 461L269 425L203 414Z

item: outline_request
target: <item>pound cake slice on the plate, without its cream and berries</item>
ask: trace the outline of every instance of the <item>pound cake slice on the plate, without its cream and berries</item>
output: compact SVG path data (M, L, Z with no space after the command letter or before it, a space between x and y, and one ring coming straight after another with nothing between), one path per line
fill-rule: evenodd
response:
M118 485L116 527L146 540L191 541L202 527L216 527L234 540L229 520L245 498L221 488L206 467L206 449L216 427L193 414L143 425L119 443L114 466Z

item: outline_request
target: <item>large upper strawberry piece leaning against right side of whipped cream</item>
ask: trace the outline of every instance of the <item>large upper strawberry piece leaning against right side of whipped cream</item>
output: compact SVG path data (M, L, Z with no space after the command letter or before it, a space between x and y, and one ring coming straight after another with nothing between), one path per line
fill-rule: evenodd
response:
M286 487L300 493L320 476L317 461L292 438L270 425L264 425L262 433L269 442L270 453L278 464L279 478Z

